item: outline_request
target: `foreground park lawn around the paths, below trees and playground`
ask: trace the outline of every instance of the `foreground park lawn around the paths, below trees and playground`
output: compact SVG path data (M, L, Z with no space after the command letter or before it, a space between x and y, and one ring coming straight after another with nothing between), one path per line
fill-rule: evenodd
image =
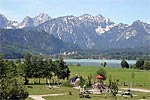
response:
M39 88L39 89L37 89ZM41 89L41 91L40 91ZM44 90L44 91L43 91ZM34 93L33 93L34 91ZM122 90L123 91L123 90ZM30 91L31 92L31 91ZM71 92L72 95L69 95L69 92ZM56 88L54 90L52 89L47 89L46 85L37 85L37 86L33 86L33 90L32 90L33 94L59 94L59 93L63 93L65 95L63 96L45 96L43 98L45 98L46 100L88 100L88 98L80 98L79 97L79 90L74 89L72 87L60 87L60 88ZM150 100L150 93L142 93L142 92L133 92L132 94L137 95L133 98L126 98L127 100L139 100L142 98L146 98L146 100ZM107 97L107 99L105 99L105 94L102 95L94 95L91 94L91 99L90 100L112 100L112 97L109 96ZM121 96L117 96L118 100L122 100L125 99ZM31 98L27 98L26 100L33 100Z

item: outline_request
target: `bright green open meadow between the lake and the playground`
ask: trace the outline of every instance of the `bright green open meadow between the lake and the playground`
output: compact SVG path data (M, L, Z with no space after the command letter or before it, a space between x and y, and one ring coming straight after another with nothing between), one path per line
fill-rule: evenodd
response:
M69 67L71 70L71 76L78 74L87 78L88 75L93 75L99 69L99 67ZM126 82L129 84L131 79L131 74L134 72L134 86L141 88L149 88L150 89L150 71L141 71L137 69L122 69L122 68L105 68L107 72L107 80L108 83L109 76L111 75L112 79L119 79L120 85L122 82Z

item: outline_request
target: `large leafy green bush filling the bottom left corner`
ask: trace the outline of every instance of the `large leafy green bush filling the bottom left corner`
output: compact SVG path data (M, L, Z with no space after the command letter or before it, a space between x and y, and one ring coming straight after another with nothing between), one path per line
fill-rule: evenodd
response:
M22 100L28 97L28 92L23 85L22 77L2 78L0 85L2 100Z

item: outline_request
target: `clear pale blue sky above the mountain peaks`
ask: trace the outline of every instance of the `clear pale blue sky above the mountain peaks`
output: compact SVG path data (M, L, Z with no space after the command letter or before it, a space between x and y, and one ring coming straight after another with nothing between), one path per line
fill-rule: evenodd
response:
M88 13L101 14L115 23L150 23L150 0L0 0L0 13L10 20L20 22L41 12L52 18Z

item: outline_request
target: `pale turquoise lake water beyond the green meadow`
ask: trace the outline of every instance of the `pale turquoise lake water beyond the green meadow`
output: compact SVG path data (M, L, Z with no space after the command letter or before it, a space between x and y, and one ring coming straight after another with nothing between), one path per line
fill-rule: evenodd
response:
M64 59L67 64L81 66L101 66L101 63L106 62L107 67L120 68L121 60L100 60L100 59ZM136 60L127 60L129 65L134 65Z

